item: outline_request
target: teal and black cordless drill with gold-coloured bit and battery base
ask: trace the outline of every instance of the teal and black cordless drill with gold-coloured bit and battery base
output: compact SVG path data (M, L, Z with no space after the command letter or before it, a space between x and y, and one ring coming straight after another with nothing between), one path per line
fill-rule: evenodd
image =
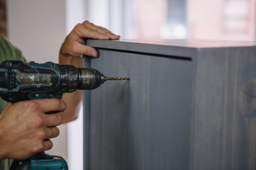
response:
M0 97L11 103L44 98L62 98L63 93L96 89L107 78L92 68L77 68L54 62L38 64L6 60L0 64ZM56 112L55 112L56 113ZM47 113L51 114L51 113ZM27 160L15 160L10 170L68 170L60 156L37 153Z

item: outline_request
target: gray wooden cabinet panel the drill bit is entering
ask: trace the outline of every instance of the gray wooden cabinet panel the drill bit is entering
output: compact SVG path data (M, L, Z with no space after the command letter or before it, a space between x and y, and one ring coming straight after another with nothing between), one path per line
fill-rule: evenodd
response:
M99 50L107 77L91 91L89 169L188 169L192 61Z

